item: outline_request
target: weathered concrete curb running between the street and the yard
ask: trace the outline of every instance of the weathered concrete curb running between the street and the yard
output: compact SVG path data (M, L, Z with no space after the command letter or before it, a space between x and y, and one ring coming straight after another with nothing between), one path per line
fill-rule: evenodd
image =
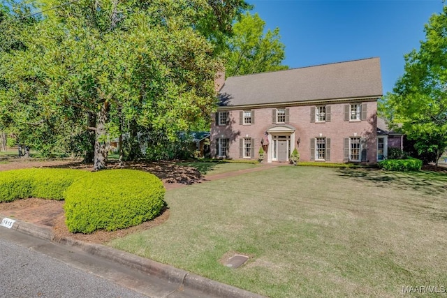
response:
M0 214L0 219L5 217L6 216ZM109 246L89 244L87 242L68 237L57 238L55 237L51 228L39 227L38 225L15 219L15 223L11 229L58 244L78 247L82 249L82 251L85 251L91 255L96 255L98 257L111 260L132 269L138 269L146 274L156 276L157 278L164 279L170 283L176 283L179 290L189 288L191 290L198 290L207 295L223 298L265 298L264 296L254 294L247 290L235 288L232 285L226 285L224 283L219 283L218 281L213 281L203 276L191 274L188 271L177 269L170 265L155 262L147 258L142 258L138 255L132 255L131 253L119 251Z

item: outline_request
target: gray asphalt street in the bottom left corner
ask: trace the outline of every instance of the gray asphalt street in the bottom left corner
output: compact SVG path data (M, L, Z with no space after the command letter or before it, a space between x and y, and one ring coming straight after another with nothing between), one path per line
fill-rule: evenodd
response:
M124 265L0 226L0 297L207 297Z

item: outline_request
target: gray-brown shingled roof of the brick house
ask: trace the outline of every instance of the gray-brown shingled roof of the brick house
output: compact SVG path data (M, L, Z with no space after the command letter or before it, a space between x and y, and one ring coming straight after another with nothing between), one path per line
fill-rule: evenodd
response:
M380 59L228 77L219 95L222 106L380 97Z

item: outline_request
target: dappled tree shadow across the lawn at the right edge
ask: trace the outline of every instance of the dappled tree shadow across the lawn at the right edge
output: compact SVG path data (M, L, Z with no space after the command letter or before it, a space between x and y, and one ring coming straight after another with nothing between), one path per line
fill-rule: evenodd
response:
M387 172L376 169L340 169L339 177L369 181L377 187L396 187L425 195L447 193L447 174L439 172Z

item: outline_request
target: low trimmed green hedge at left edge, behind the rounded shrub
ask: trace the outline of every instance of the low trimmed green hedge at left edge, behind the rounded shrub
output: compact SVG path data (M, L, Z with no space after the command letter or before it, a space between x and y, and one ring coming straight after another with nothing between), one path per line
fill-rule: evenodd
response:
M24 198L64 200L64 191L89 172L71 169L22 169L0 172L0 202Z

